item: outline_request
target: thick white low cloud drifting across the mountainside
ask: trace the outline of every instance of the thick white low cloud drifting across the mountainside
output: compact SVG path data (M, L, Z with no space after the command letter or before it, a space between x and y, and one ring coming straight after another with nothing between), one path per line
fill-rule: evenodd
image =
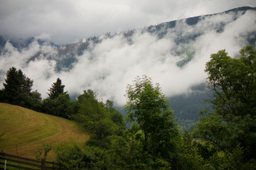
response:
M7 69L14 66L34 80L33 89L38 89L43 98L60 77L70 95L92 89L119 106L126 102L127 84L143 74L151 77L153 83L159 83L166 96L188 93L191 86L206 81L204 69L210 54L226 49L234 57L247 45L247 37L256 32L252 20L255 14L255 11L238 13L235 21L233 13L208 16L193 26L186 20L177 21L164 38L144 30L136 30L129 40L122 33L112 38L102 35L100 43L91 41L90 50L75 56L72 67L61 71L56 70L57 49L49 43L39 45L35 40L28 48L17 50L7 42L6 53L0 57L1 82ZM38 38L48 40L49 36L38 35ZM38 51L44 53L26 62ZM189 52L193 55L191 61L178 67L178 62L188 60Z

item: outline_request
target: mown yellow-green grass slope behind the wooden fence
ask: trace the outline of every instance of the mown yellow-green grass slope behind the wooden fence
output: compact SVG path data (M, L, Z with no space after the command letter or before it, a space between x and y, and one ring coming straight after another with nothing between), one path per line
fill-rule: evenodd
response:
M0 103L0 152L35 159L38 147L42 143L58 145L62 142L80 147L89 139L88 134L76 130L75 123L54 115L38 113L20 106ZM54 160L54 152L50 152L48 161Z

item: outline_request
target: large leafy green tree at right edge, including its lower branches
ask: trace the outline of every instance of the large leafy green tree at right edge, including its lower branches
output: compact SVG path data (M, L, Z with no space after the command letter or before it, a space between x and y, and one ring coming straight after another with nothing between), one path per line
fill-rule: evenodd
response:
M239 145L247 162L256 159L256 51L247 46L240 55L231 58L220 50L210 56L205 71L214 112L201 118L194 135L228 155Z

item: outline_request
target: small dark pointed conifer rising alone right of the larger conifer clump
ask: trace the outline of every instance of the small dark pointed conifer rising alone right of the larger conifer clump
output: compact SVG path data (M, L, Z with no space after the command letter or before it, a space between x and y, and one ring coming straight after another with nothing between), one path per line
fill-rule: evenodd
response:
M61 79L58 78L57 81L52 84L50 89L48 89L48 91L50 91L50 94L48 94L49 96L48 98L55 99L55 98L58 98L60 94L67 94L68 91L64 92L64 87L65 85L62 85Z

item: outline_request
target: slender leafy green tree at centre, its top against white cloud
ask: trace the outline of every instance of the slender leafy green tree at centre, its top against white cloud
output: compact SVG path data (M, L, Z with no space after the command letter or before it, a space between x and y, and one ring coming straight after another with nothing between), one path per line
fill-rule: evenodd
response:
M127 120L136 121L143 132L144 152L154 158L173 159L181 140L169 101L145 75L127 86Z

